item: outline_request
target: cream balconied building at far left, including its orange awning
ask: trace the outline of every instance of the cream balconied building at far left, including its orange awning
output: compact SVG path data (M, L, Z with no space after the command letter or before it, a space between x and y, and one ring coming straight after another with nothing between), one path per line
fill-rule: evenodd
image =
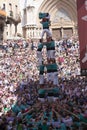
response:
M16 36L20 22L19 0L0 0L0 40Z

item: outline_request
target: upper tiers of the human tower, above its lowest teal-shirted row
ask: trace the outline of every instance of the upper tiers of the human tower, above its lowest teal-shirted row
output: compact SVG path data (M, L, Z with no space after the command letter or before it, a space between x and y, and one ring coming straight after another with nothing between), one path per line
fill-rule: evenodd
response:
M39 63L39 84L42 86L45 82L45 76L47 76L47 82L51 82L53 85L58 85L58 66L55 60L55 41L52 39L50 32L50 15L49 13L39 13L40 23L42 24L43 31L41 39L38 44L37 58ZM46 38L44 39L44 35ZM45 40L45 41L44 41ZM46 48L46 56L44 58L43 49Z

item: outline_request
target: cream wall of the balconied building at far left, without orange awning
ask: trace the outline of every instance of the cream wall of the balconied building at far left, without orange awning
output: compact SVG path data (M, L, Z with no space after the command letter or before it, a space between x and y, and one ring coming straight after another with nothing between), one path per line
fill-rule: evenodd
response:
M4 17L3 24L3 39L6 40L17 35L18 32L22 32L21 25L18 25L21 16L19 0L0 0L0 9L6 12L6 17Z

